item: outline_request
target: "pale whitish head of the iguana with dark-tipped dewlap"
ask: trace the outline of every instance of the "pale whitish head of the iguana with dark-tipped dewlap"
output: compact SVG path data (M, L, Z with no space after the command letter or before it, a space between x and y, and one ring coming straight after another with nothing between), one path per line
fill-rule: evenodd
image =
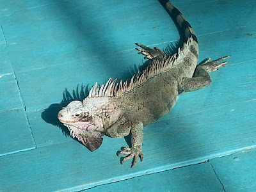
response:
M109 120L108 97L74 100L58 113L61 123L68 127L70 135L81 141L91 151L100 147L104 126Z

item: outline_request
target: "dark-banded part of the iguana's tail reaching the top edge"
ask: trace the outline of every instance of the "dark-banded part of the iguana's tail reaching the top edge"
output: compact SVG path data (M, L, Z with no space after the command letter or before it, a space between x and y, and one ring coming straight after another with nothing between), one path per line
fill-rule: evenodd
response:
M180 13L180 11L168 0L159 0L161 4L163 4L164 8L170 13L171 17L180 27L180 30L186 36L186 39L193 38L195 42L197 41L195 31L192 29L188 20Z

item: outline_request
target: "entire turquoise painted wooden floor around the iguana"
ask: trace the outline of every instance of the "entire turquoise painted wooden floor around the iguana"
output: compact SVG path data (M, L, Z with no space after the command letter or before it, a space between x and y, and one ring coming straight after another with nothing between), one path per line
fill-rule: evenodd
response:
M144 131L90 152L57 113L97 81L143 65L135 42L166 49L179 32L156 0L0 0L0 191L256 191L256 1L173 0L198 35L199 61L232 55L211 86L180 95Z

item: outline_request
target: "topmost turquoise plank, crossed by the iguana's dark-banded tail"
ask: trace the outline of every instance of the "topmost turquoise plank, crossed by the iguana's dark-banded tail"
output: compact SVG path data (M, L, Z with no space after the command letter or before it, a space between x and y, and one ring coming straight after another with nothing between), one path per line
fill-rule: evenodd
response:
M134 42L140 41L143 44L150 45L177 39L177 29L175 29L175 26L168 19L168 15L157 1L154 3L147 3L148 1L141 2L141 4L134 3L137 4L136 6L132 3L125 3L122 7L118 7L117 4L110 6L115 4L114 2L111 1L108 5L109 9L103 9L104 4L102 4L100 10L97 4L85 4L82 1L72 4L58 2L46 4L45 6L32 6L32 8L31 3L28 3L28 8L19 9L19 12L13 13L12 17L6 17L6 25L3 24L3 27L12 49L10 54L12 60L15 61L13 62L15 69L22 71L58 65L63 62L69 63L77 61L79 58L81 59L81 56L84 58L88 58L88 56L99 58L100 56L104 60L104 54L113 54L113 52L133 49ZM156 12L157 14L154 15L154 19L147 17L146 15L150 15L150 12L155 11L150 9L141 10L143 3L149 8L154 7L162 11ZM200 4L200 6L204 10L205 4ZM90 7L89 12L82 12L86 7ZM230 7L230 9L227 9L227 7ZM193 18L197 19L200 17L200 20L193 25L199 36L212 33L214 30L216 33L216 28L212 28L212 26L216 26L216 22L219 23L218 26L223 24L218 31L234 29L237 26L250 26L251 24L246 22L248 19L242 17L244 12L237 12L235 8L240 10L243 8L251 17L255 14L252 10L253 6L247 9L248 3L241 1L230 1L225 6L216 3L210 6L210 8L210 10L207 9L205 14L197 12L197 9L189 9L191 11L184 10L184 12L186 11L184 14L191 18L191 22L193 22ZM63 12L62 9L66 11ZM223 9L225 9L225 12L223 12ZM101 15L103 16L95 15L95 17L89 17L96 10L102 11ZM127 15L132 15L134 12L136 12L136 15L133 14L133 17L127 17ZM237 14L232 14L234 12L237 12ZM74 13L77 15L74 15ZM106 14L105 17L104 14ZM226 14L226 17L223 14ZM68 15L70 16L68 17ZM108 20L111 20L111 25L106 20L106 16ZM26 22L22 22L22 24L20 22L17 23L17 20L22 18ZM95 24L96 19L99 19L97 22L100 25ZM120 19L125 19L126 22L121 22ZM238 20L238 22L229 22L230 19ZM77 26L77 22L74 23L74 20L79 20L86 28L83 29L81 26ZM10 25L10 22L14 23L15 26ZM15 30L17 27L21 29L19 31L20 35L17 35ZM203 32L204 30L208 31ZM108 32L104 33L104 31ZM36 36L30 36L29 34L31 33L36 34ZM157 33L161 35L156 35ZM41 38L37 38L37 36L41 36ZM79 40L78 42L77 39ZM94 45L97 45L97 47ZM81 47L83 47L83 54L76 56L76 52ZM36 51L37 49L41 51L38 52ZM113 52L110 52L111 50ZM24 55L26 57L23 57ZM29 63L33 63L33 65L30 66Z

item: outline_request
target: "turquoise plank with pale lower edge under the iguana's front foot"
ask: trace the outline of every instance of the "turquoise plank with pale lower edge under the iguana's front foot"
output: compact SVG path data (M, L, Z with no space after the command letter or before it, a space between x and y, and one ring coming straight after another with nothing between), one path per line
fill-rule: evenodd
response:
M0 161L4 171L0 174L10 177L3 180L3 185L7 186L7 191L13 188L19 191L78 191L227 156L256 146L255 116L248 116L255 110L254 106L255 101L243 102L236 104L235 111L223 107L214 113L202 111L148 125L143 141L145 158L136 168L130 168L131 161L121 165L116 157L116 151L127 146L124 138L106 136L102 146L94 152L68 138L68 142L46 143L36 150L4 156ZM38 124L36 129L44 130L44 125Z

